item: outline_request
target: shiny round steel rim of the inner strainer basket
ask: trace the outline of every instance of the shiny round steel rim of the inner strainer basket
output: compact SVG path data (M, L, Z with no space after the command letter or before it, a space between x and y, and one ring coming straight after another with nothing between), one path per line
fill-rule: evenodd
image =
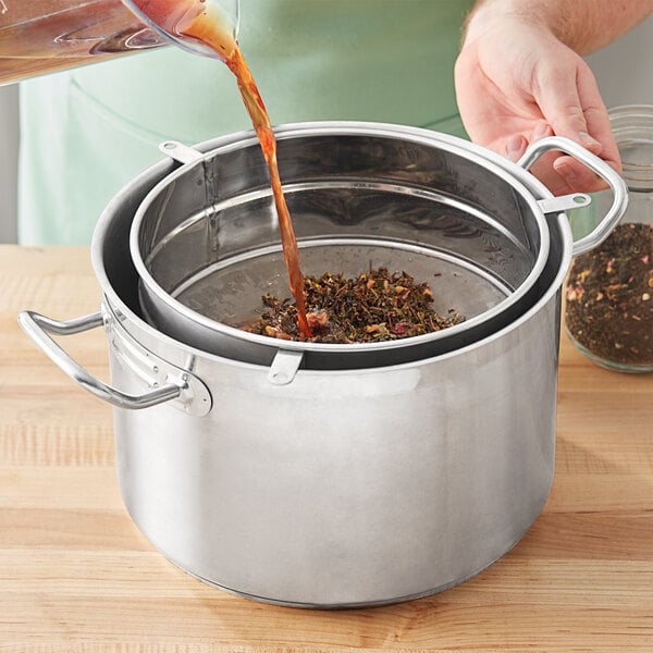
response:
M270 336L259 335L243 331L236 326L230 326L223 322L210 319L186 305L182 304L178 299L174 298L168 292L165 292L156 279L150 274L143 256L139 250L139 232L140 225L145 217L145 210L149 201L159 195L161 189L169 186L171 182L174 182L177 177L186 174L189 170L196 165L201 165L204 161L211 158L215 152L229 152L233 149L239 149L245 146L258 144L258 138L254 130L230 134L226 136L219 137L213 140L205 141L196 147L204 156L197 160L184 163L176 168L173 172L165 175L157 184L150 188L138 209L136 210L134 220L131 226L130 233L130 250L132 261L136 268L137 274L158 301L161 301L163 306L172 309L176 315L180 315L184 320L187 320L189 325L193 323L202 326L204 329L215 332L217 337L225 336L236 338L241 342L250 343L251 345L258 345L267 347L271 350L294 350L294 352L320 352L323 354L333 355L347 355L347 354L360 354L360 353L374 353L387 349L396 348L411 348L423 346L433 341L444 340L454 336L458 333L469 331L479 324L484 324L497 319L504 313L509 307L517 304L535 284L537 280L541 275L546 260L549 258L550 250L550 225L546 215L542 211L538 204L538 199L544 199L553 197L553 195L544 186L538 188L542 197L537 197L535 194L529 189L528 185L523 182L527 175L530 177L530 173L527 170L519 167L516 163L512 163L509 160L494 155L486 148L471 144L467 140L463 140L456 136L447 134L441 134L430 130L421 127L410 127L406 125L394 125L390 123L375 123L375 122L357 122L357 121L323 121L323 122L303 122L303 123L288 123L274 127L274 134L278 140L285 140L293 137L310 137L315 135L337 135L337 136L385 136L391 138L397 138L402 140L409 140L410 143L418 143L422 145L438 145L444 144L449 150L453 150L456 155L471 160L472 162L490 168L492 172L495 172L500 176L500 172L507 172L508 177L502 177L506 183L515 188L517 193L528 202L537 225L540 232L540 249L534 260L533 267L530 270L527 278L517 286L514 292L507 295L504 299L498 301L490 309L473 316L464 322L448 326L446 329L428 333L423 335L411 336L407 338L398 338L395 341L384 341L374 343L352 343L352 344L331 344L331 343L310 343L304 341L285 341L272 338ZM206 146L206 147L202 147ZM492 155L492 156L490 156ZM508 163L509 165L506 165Z

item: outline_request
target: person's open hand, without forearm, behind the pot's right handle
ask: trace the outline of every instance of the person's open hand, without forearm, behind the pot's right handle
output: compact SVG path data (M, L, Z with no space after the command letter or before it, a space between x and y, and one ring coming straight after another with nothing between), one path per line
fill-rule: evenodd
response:
M620 172L591 70L544 25L509 16L470 25L455 78L460 116L475 143L516 161L529 144L566 136ZM555 195L606 187L588 168L555 152L531 172Z

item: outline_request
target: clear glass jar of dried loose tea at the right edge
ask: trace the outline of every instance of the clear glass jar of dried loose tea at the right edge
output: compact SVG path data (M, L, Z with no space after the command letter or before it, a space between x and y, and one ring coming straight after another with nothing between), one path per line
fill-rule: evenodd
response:
M608 114L628 185L628 208L601 245L574 260L566 283L565 328L575 347L596 365L652 372L653 106L617 107ZM597 214L608 196L594 195ZM583 230L579 224L572 229Z

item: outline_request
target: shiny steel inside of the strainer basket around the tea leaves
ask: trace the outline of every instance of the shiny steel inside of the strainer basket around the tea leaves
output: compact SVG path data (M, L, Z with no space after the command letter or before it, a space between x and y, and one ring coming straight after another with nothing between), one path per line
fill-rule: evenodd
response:
M432 337L494 318L544 268L549 227L532 195L435 134L289 131L279 135L278 159L304 274L386 267L426 281L439 313L466 317ZM220 333L256 320L262 295L289 297L256 138L218 148L159 183L136 213L132 256L145 304L156 297L157 312L162 303L189 315L190 344L195 320Z

